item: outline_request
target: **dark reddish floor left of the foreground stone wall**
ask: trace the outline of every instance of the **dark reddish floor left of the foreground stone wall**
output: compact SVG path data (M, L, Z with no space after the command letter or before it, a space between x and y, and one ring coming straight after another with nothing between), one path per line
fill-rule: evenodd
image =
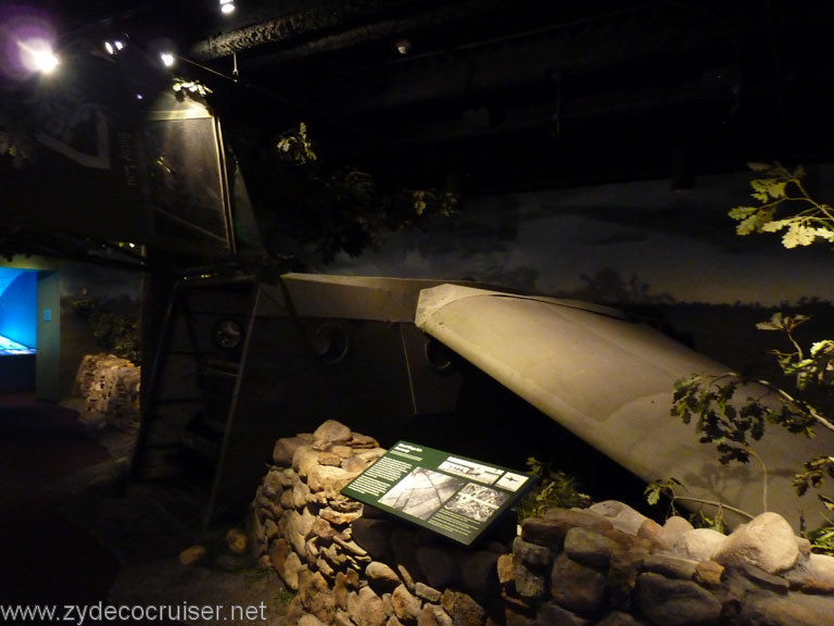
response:
M76 622L81 611L93 617L127 608L123 623L157 625L233 624L238 606L263 611L260 624L285 624L289 594L273 572L231 553L220 530L186 527L155 488L125 488L132 441L85 422L72 406L0 396L3 605L72 606ZM180 551L194 544L205 555L181 564ZM206 606L208 619L187 613ZM179 611L180 619L160 618L161 610L175 617Z

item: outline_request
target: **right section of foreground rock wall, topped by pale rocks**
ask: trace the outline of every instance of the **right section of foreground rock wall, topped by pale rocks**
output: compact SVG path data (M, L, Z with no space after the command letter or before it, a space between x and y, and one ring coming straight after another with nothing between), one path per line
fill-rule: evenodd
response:
M553 509L522 523L498 573L514 626L825 626L834 614L834 559L775 513L725 536L616 501Z

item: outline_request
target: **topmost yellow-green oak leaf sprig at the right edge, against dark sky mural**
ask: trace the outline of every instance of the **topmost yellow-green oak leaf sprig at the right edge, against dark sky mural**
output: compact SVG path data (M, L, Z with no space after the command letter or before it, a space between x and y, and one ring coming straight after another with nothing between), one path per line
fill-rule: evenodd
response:
M808 196L803 186L805 170L801 166L791 171L780 163L749 163L761 178L750 181L753 193L758 201L753 206L735 206L729 212L738 224L738 235L751 233L779 233L785 248L810 246L820 239L834 241L834 213L831 206Z

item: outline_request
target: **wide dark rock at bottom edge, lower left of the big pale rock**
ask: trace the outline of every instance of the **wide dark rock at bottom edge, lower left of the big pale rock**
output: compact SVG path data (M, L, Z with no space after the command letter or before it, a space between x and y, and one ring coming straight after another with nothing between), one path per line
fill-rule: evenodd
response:
M670 580L659 574L641 574L637 605L657 626L717 626L721 602L690 580Z

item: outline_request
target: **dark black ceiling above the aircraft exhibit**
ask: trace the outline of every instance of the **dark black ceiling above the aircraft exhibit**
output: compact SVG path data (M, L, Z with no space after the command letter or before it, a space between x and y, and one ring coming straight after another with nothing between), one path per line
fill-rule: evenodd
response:
M174 42L232 141L303 121L320 153L396 185L685 184L834 152L834 2L236 2L228 17L218 0L48 9L65 39Z

